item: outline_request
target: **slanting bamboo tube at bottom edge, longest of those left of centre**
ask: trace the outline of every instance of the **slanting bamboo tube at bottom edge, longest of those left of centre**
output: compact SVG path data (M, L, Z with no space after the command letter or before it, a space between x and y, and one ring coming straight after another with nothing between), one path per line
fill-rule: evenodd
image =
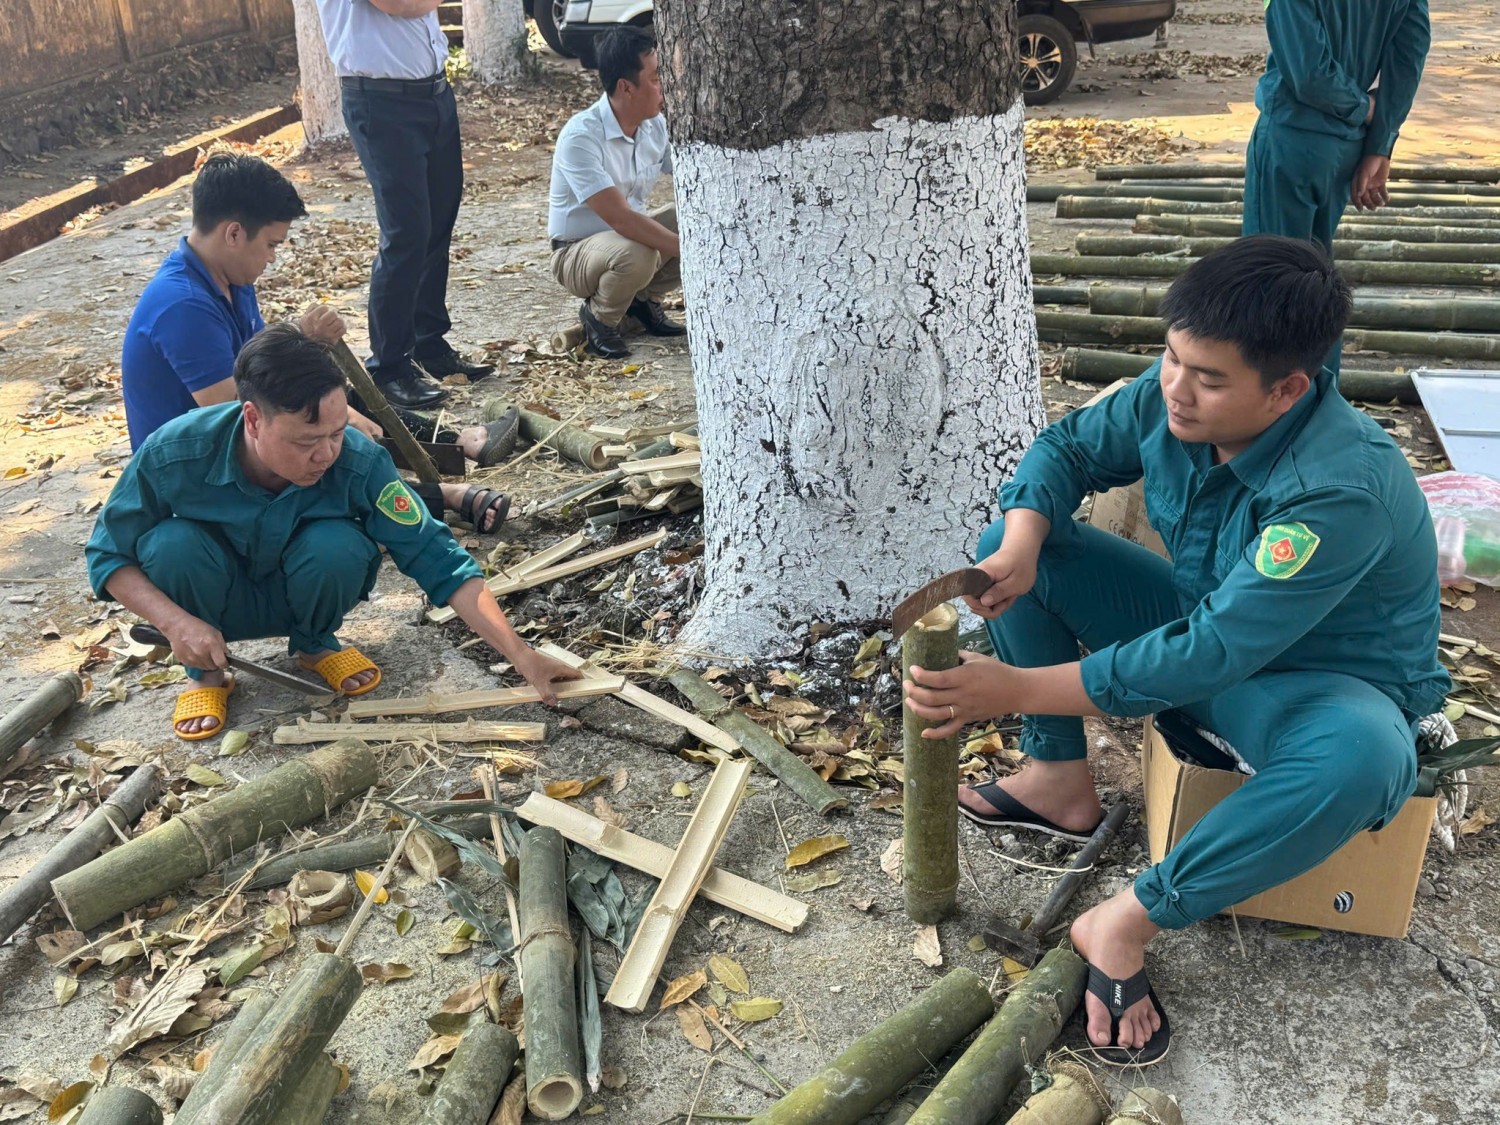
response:
M360 970L346 957L312 954L226 1065L198 1078L207 1084L202 1100L192 1110L184 1102L172 1125L280 1125L282 1107L298 1094L360 987Z

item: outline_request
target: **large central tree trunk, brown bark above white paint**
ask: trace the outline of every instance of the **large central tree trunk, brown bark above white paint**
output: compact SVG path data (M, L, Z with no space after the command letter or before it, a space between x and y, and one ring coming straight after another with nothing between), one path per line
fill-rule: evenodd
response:
M951 570L1042 424L1016 14L663 0L656 24L704 438L680 644L765 654Z

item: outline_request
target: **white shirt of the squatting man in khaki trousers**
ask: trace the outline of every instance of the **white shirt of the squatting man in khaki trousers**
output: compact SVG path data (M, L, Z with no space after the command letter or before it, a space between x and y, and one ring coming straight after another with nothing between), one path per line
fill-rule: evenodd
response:
M609 96L573 114L558 134L552 153L552 188L548 194L548 237L578 242L608 231L586 200L606 188L618 188L632 208L645 212L646 200L662 174L672 174L672 150L666 118L650 117L626 136L615 120Z

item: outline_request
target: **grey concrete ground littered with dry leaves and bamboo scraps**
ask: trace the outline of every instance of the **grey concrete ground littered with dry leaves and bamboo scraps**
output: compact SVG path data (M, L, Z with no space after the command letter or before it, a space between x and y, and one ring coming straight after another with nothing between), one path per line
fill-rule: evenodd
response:
M1262 6L1254 0L1185 0L1179 8L1182 18L1172 27L1168 51L1186 52L1180 60L1170 54L1167 58L1176 62L1154 63L1150 40L1101 50L1098 62L1080 69L1076 92L1034 117L1070 118L1086 129L1100 129L1088 118L1128 120L1137 128L1161 129L1180 146L1202 144L1206 153L1242 152L1254 118L1256 78L1244 60L1263 50L1257 22ZM1486 3L1455 3L1434 14L1428 80L1402 138L1404 158L1492 159L1497 130L1485 92L1500 63L1496 27L1494 8ZM1204 56L1228 62L1192 66L1194 57ZM1192 69L1209 74L1184 74ZM1148 72L1158 76L1143 76ZM588 80L572 64L554 60L548 74L543 87L520 94L462 90L470 186L450 298L458 339L488 346L502 366L489 384L456 392L454 412L472 417L480 400L500 394L550 405L562 417L576 412L585 422L648 424L690 417L692 380L682 346L642 344L630 364L576 364L525 348L544 340L573 315L572 302L554 286L546 266L548 146L561 122L592 98ZM286 140L272 138L267 150L278 152L276 144ZM358 344L362 286L374 249L374 213L358 165L351 152L336 148L296 160L288 172L308 198L312 218L298 224L262 286L267 315L296 314L314 297L327 298L351 320ZM1053 176L1084 178L1086 172L1046 172L1038 178ZM236 782L300 753L272 746L266 734L278 722L304 714L302 700L279 688L242 678L230 726L252 730L254 738L242 754L220 758L222 740L189 746L171 736L166 716L176 688L142 682L159 669L136 666L114 676L114 657L94 648L122 646L118 634L108 636L120 615L90 598L81 558L93 513L128 456L118 404L120 338L136 292L184 228L186 207L184 182L0 264L0 708L42 676L76 668L90 650L90 704L99 702L76 708L60 729L36 740L30 760L0 780L6 808L33 810L45 806L42 798L54 786L87 778L87 747L80 742L92 746L96 756L159 756L174 789L189 801L204 794L186 778L190 764ZM1032 207L1034 242L1065 244L1080 224L1056 222L1048 212ZM1098 225L1124 230L1120 224ZM1054 414L1090 393L1056 380L1048 380L1046 390ZM1384 417L1424 471L1437 466L1431 429L1420 411ZM555 462L536 459L507 474L504 483L528 498L550 495L574 478ZM518 549L534 549L576 526L576 516L534 518L510 525L506 538ZM700 537L700 528L693 516L684 516L672 522L672 534L669 546L688 546ZM483 552L492 542L476 546ZM518 624L580 646L584 640L606 640L608 628L622 628L627 639L639 640L640 614L630 598L656 597L652 608L680 612L688 604L693 566L690 560L672 561L651 552L621 567L606 591L590 592L602 578L592 573L508 603L507 609ZM650 594L668 590L686 592ZM1500 603L1485 588L1472 598L1467 608L1455 598L1444 628L1500 650ZM458 648L459 632L416 624L420 608L414 588L387 568L372 603L351 616L345 639L384 668L390 693L495 684L486 658L472 648ZM270 642L237 648L255 660L284 658ZM848 668L849 654L837 646L825 656L831 668ZM1474 656L1466 660L1476 668L1474 686L1485 690L1494 664ZM123 688L118 702L105 702L111 682ZM764 692L772 690L764 669L759 684ZM849 687L860 686L844 681L840 699L846 706ZM888 675L876 681L873 694L878 700L892 698ZM846 716L852 718L854 711ZM570 712L576 714L522 708L507 716L549 726L548 741L534 748L540 768L510 778L510 796L543 782L618 778L596 794L608 794L632 831L675 842L694 798L675 796L672 789L684 782L699 794L708 766L664 750L674 744L670 729L627 718L618 705L592 704ZM1466 734L1479 734L1484 723L1466 718L1461 726ZM1138 808L1138 726L1095 724L1090 730L1102 783ZM404 786L402 792L411 795L448 795L472 786L471 765L452 747L432 754L388 752L382 783ZM914 957L914 927L903 914L902 891L880 870L882 854L900 836L898 816L872 807L876 790L846 786L846 792L850 812L824 819L764 774L756 776L723 846L724 866L776 886L784 873L788 846L842 832L849 848L812 868L836 870L840 882L798 896L812 909L796 934L700 902L663 970L663 980L670 980L704 968L711 954L728 954L744 966L752 994L783 1000L778 1016L738 1026L736 1034L765 1071L786 1084L813 1072L940 972L964 964L993 978L999 972L998 954L975 951L970 939L992 915L1016 921L1035 910L1054 878L1036 866L1058 867L1068 860L1066 849L1032 840L992 846L984 832L964 824L962 914L939 927L944 964L932 969ZM22 806L26 795L34 800ZM579 804L592 808L591 800L585 796ZM1492 788L1476 794L1479 807L1496 810L1497 802L1500 794ZM352 816L344 810L316 828L327 832ZM64 812L34 831L0 840L0 888L58 840L66 822ZM1240 920L1238 930L1228 920L1210 920L1164 934L1149 968L1176 1028L1173 1053L1150 1072L1101 1072L1101 1082L1112 1088L1160 1086L1180 1100L1190 1122L1500 1120L1500 1068L1492 1047L1500 1026L1494 993L1500 914L1491 890L1500 876L1496 842L1492 828L1480 828L1461 840L1455 855L1430 849L1406 940L1330 932L1290 940L1281 927L1248 920ZM1144 862L1144 828L1132 819L1080 894L1077 909L1124 888ZM632 894L648 891L648 882L632 872L621 868L621 879ZM460 882L490 910L502 912L501 896L482 876L465 872ZM410 896L405 909L414 914L416 924L398 934L399 908L378 908L354 957L362 964L400 962L414 974L369 986L334 1038L333 1050L350 1068L351 1083L334 1101L332 1122L416 1118L420 1078L406 1064L428 1036L424 1017L482 970L484 946L458 956L436 952L454 926L442 896L417 885L410 874L400 888ZM206 880L184 902L213 890ZM260 916L266 894L246 898L249 915ZM336 939L345 922L298 927L296 950L266 964L264 982L279 988L312 950L312 939ZM39 934L54 928L63 924L44 915L0 948L0 1076L38 1090L52 1089L45 1082L68 1086L90 1077L90 1059L118 1018L110 1004L118 981L147 974L142 962L128 962L118 978L94 968L80 978L76 996L58 1010L56 972L36 944ZM224 948L214 946L214 952ZM603 974L616 963L618 954L598 948ZM196 1050L218 1041L220 1029L171 1044L162 1058L152 1048L136 1050L116 1065L111 1080L141 1086L171 1104L144 1064L186 1066ZM744 1054L726 1046L723 1036L716 1036L711 1056L694 1048L672 1012L638 1017L608 1010L603 1034L603 1062L622 1071L624 1084L585 1096L584 1107L597 1112L602 1122L666 1122L690 1110L694 1119L705 1113L753 1114L771 1100L771 1083ZM158 1041L156 1050L164 1042ZM1062 1042L1082 1044L1077 1024ZM42 1110L26 1116L24 1100L8 1101L8 1089L0 1083L0 1120L45 1119Z

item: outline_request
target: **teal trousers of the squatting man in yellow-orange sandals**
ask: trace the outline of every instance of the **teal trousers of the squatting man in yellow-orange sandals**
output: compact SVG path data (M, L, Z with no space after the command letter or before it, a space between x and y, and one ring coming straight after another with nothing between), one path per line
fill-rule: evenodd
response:
M309 520L286 544L280 568L258 578L218 531L190 519L164 520L136 552L152 584L225 640L285 636L288 654L339 648L333 634L369 597L381 560L351 519ZM188 675L198 680L202 669Z

